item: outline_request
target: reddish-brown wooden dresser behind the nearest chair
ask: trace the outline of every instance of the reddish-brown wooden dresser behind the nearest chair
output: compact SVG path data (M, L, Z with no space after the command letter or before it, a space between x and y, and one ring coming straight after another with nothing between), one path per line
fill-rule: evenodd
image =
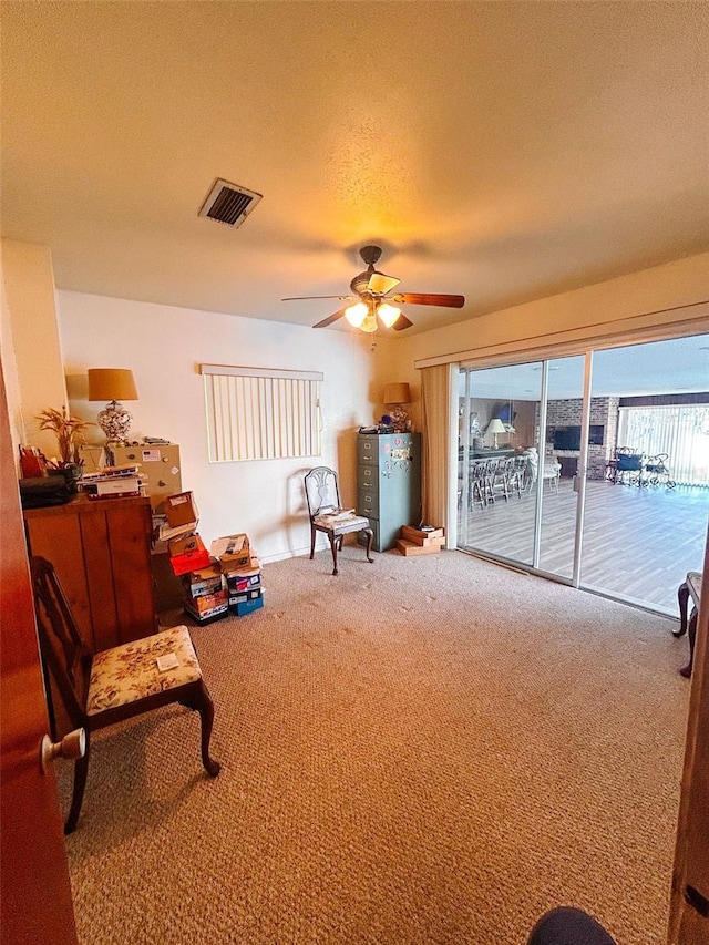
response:
M52 562L85 643L99 651L157 631L151 504L144 496L25 509L31 555Z

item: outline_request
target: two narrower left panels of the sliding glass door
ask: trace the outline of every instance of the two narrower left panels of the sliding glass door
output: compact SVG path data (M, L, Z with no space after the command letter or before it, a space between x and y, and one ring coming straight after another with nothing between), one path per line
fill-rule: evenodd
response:
M571 578L584 358L463 369L460 384L462 546Z

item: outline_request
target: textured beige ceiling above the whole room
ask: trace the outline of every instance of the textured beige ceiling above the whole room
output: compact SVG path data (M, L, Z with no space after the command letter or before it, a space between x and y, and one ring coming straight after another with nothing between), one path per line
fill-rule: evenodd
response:
M709 248L707 3L0 7L2 235L60 288L312 325L373 242L466 297L417 331Z

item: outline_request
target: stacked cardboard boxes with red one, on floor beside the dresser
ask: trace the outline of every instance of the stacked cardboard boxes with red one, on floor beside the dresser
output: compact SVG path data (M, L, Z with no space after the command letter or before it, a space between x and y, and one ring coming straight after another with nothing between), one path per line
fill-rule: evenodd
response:
M238 617L264 606L261 567L248 535L227 535L206 549L197 532L198 513L191 492L168 495L158 538L167 541L169 563L184 588L184 608L199 624Z

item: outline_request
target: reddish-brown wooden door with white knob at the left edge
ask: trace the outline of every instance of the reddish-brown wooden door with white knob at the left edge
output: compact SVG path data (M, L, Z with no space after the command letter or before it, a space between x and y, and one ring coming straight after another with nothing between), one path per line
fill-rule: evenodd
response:
M0 364L1 927L8 945L76 945L18 481Z

